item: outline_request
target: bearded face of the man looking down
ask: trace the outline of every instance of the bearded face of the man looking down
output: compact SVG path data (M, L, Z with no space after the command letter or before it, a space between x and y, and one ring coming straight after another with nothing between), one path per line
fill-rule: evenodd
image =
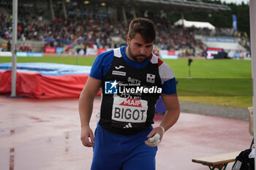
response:
M143 63L150 57L153 50L153 42L146 43L140 34L136 34L133 39L127 36L127 56L129 59L138 63Z

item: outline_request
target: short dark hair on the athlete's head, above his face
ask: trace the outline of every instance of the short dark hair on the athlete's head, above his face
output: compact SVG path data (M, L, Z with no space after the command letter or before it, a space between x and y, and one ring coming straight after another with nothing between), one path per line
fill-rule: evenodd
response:
M156 31L152 20L135 18L129 23L128 36L132 40L136 34L140 34L146 43L154 42Z

